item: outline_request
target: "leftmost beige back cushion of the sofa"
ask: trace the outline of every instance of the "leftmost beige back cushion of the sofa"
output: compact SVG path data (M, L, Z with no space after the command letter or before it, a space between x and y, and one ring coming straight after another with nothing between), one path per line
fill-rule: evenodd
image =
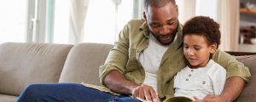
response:
M0 45L0 93L19 95L29 83L58 82L73 45L6 42Z

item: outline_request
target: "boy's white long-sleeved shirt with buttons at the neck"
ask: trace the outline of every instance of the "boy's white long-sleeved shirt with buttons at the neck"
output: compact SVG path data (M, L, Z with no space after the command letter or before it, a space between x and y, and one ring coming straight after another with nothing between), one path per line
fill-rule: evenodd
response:
M174 96L203 99L207 94L219 95L224 89L226 70L209 60L206 67L191 69L189 66L177 72L174 77Z

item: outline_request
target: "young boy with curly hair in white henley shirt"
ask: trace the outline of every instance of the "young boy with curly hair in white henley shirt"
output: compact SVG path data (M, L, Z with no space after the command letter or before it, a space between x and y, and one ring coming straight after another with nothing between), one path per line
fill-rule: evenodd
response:
M174 79L175 96L196 100L221 94L226 71L211 59L219 43L219 26L211 18L197 16L185 23L183 54L188 65Z

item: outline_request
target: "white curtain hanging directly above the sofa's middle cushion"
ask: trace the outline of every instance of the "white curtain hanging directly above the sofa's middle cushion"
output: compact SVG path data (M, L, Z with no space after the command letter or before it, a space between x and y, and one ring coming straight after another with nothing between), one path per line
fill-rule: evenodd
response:
M90 0L71 0L69 43L79 43L83 40L84 20Z

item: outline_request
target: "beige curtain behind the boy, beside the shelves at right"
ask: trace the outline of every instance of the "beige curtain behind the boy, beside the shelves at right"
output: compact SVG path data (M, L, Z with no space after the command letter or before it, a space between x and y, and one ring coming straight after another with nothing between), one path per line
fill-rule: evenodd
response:
M239 37L239 0L218 0L218 20L221 31L219 49L224 51L238 50Z

